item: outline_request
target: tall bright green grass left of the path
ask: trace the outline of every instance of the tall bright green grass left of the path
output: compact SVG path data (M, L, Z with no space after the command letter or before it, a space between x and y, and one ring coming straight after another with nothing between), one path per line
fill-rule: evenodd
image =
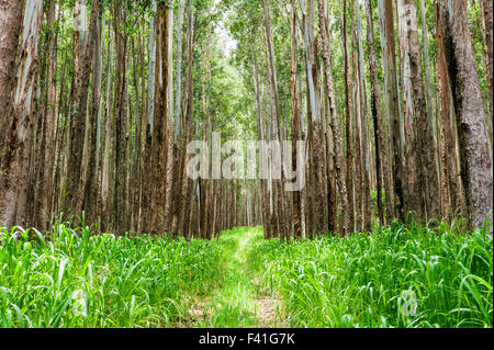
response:
M184 294L211 289L221 251L216 242L91 236L59 223L48 237L3 232L0 327L168 326Z

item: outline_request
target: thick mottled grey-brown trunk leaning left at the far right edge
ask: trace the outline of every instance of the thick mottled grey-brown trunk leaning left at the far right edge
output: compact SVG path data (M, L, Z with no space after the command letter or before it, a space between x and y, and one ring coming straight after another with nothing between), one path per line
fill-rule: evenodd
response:
M492 149L485 126L484 105L468 27L467 3L440 1L442 35L457 114L461 150L461 179L467 194L471 228L492 221ZM490 214L490 215L489 215ZM489 215L489 217L487 217Z

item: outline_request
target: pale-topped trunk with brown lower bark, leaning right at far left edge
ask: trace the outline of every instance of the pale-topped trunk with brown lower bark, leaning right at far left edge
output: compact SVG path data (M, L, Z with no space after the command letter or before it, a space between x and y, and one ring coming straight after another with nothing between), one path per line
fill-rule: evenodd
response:
M2 5L2 10L5 10L4 5ZM5 11L4 13L8 23L19 27L14 22L15 19L19 19L15 12L19 8L11 7L8 10L10 11ZM20 44L20 61L16 76L18 84L13 108L11 109L11 115L14 118L11 121L10 133L7 136L8 147L2 161L2 171L4 173L0 182L0 223L7 227L13 225L25 227L30 224L30 218L27 217L27 187L34 135L34 99L36 95L36 70L42 20L43 1L27 0L24 12L22 41ZM5 29L5 31L9 31L9 29ZM9 34L15 36L14 32ZM8 44L10 38L9 36L4 37L0 44ZM1 58L11 58L9 53L5 53L3 48L0 52L4 55ZM2 65L4 65L3 61ZM7 65L11 65L11 63L7 63ZM3 67L8 67L7 65ZM0 89L2 90L12 82L11 77L3 76L1 79L2 81L0 83L2 84ZM8 108L12 105L12 102L7 97L5 105Z

